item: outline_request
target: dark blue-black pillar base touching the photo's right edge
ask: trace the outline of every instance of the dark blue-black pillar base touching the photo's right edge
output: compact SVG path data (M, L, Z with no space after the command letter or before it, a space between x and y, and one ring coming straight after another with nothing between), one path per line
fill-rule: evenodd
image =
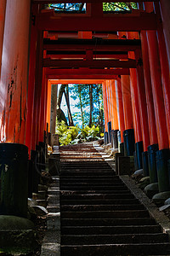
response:
M170 159L170 150L161 149L156 152L156 167L159 192L170 191L167 161Z

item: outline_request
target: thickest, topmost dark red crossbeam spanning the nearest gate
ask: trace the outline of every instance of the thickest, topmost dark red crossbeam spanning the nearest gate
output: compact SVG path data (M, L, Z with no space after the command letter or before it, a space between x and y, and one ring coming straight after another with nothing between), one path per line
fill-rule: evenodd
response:
M111 15L103 17L88 16L54 16L40 14L37 16L39 30L57 32L114 32L156 30L156 15L141 13L140 15Z

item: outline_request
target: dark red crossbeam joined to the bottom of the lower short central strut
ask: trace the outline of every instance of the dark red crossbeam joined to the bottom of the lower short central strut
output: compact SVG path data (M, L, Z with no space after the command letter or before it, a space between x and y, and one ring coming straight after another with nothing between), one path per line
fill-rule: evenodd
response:
M136 61L135 60L128 60L128 61L117 61L117 60L93 60L93 61L80 61L80 60L51 60L51 59L44 59L43 60L43 67L91 67L91 68L105 68L105 67L125 67L125 68L135 68Z

